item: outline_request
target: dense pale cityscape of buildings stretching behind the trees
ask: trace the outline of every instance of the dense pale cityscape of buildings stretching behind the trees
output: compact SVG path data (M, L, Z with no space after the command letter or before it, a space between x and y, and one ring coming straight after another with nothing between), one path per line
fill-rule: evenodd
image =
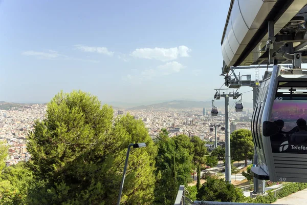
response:
M22 105L22 104L21 104ZM9 156L6 166L15 165L19 161L27 161L31 156L27 153L27 134L33 130L34 120L41 120L46 116L46 104L24 105L0 110L0 139L9 146ZM217 140L225 141L225 113L223 108L216 117L211 116L210 108L189 109L143 109L118 110L114 109L114 116L131 114L141 119L148 129L151 138L155 138L162 128L166 128L169 136L186 134L199 136L205 141L214 141L214 130L217 129ZM252 110L230 112L230 132L236 129L249 129ZM211 129L210 129L211 128Z

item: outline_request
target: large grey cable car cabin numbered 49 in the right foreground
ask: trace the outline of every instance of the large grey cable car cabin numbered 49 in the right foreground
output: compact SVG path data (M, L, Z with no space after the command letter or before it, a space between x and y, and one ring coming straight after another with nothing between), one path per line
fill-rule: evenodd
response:
M307 69L266 72L252 116L258 179L307 182Z

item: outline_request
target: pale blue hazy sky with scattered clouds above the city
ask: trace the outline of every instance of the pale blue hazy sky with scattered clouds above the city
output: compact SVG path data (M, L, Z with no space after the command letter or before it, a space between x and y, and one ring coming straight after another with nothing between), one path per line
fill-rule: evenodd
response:
M0 0L0 100L47 102L73 89L104 102L211 99L224 83L228 8L229 0Z

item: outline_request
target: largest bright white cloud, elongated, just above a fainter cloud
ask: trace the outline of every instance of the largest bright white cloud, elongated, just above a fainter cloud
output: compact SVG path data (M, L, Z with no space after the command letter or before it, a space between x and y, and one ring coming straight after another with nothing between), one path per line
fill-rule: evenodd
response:
M130 55L138 58L169 61L178 57L188 57L189 52L191 52L191 49L188 47L179 46L175 48L140 48L130 53Z

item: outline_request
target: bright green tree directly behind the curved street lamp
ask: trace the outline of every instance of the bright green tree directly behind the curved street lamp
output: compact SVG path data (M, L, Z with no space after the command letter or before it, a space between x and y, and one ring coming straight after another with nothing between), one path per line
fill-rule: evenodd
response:
M119 151L115 152L114 155L114 165L109 170L110 173L117 173L120 176L119 182L124 169L128 145L138 142L145 142L146 144L146 148L130 150L121 202L124 204L152 204L156 182L155 159L157 147L149 136L144 122L141 119L134 119L129 114L119 116L115 120L112 135L116 136L118 141L122 140L122 144L118 147ZM113 185L109 183L108 186L112 187ZM115 192L112 192L115 193L114 198L118 197L118 191L119 187L115 189ZM114 198L110 198L107 204L112 204Z

